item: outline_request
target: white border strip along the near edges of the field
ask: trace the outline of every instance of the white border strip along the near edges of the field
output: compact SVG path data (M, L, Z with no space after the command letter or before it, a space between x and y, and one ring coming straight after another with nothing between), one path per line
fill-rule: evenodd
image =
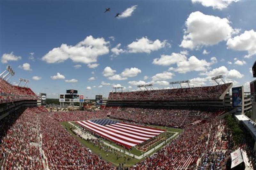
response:
M74 127L76 127L76 129L74 130L77 134L79 134L81 137L83 137L84 139L91 139L91 138L93 138L93 139L98 139L97 137L94 137L94 136L92 136L91 134L87 134L87 133L84 133L80 128L78 128L77 126L75 126L73 123L71 123L71 122L68 122L69 124L71 124L72 126L74 126ZM168 131L168 132L172 132L172 131ZM178 132L172 132L172 133L174 133L171 137L169 137L168 139L166 139L166 143L168 143L168 141L170 141L172 138L174 138L174 137L176 137L176 135L178 134ZM160 148L161 146L163 146L164 144L165 144L165 141L164 142L162 142L162 143L160 143L159 145L157 145L156 147L154 147L154 148L152 148L151 150L149 150L148 152L146 152L146 153L144 153L144 154L142 154L142 155L140 155L140 156L137 156L137 155L134 155L134 154L132 154L132 153L129 153L129 152L127 152L127 151L125 151L125 150L123 150L123 149L120 149L120 148L117 148L117 147L115 147L115 146L113 146L113 145L111 145L111 144L108 144L107 142L104 142L104 141L102 141L103 142L103 144L105 144L105 145L107 145L107 146L110 146L111 148L113 148L113 149L115 149L115 150L117 150L117 151L119 151L119 152L122 152L122 153L124 153L124 154L126 154L126 155L128 155L128 156L131 156L131 157L134 157L134 158L136 158L136 159L142 159L142 158L144 158L144 157L146 157L146 156L148 156L150 153L152 153L152 152L154 152L155 150L157 150L158 148Z

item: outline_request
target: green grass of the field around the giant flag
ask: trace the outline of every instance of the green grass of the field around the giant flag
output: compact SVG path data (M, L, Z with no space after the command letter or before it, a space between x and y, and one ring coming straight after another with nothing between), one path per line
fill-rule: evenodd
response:
M85 141L84 139L81 139L81 138L79 138L79 137L76 137L76 135L71 131L71 128L72 128L72 125L70 125L68 122L60 122L60 124L64 127L64 128L66 128L67 129L67 131L70 133L70 134L72 134L72 136L73 137L75 137L76 138L76 140L77 141L79 141L81 144L83 144L85 147L87 147L87 148L89 148L94 154L96 154L96 155L99 155L102 159L104 159L104 160L106 160L106 161L108 161L108 162L110 162L110 163L112 163L113 165L115 165L115 166L118 166L119 165L119 163L120 164L124 164L124 166L125 167L128 167L128 166L133 166L134 164L136 164L136 163L138 163L139 161L141 161L141 160L143 160L143 159L136 159L136 158L133 158L132 156L129 156L129 155L126 155L126 154L124 154L123 152L120 152L120 151L115 151L116 153L109 153L109 152L105 152L105 151L103 151L102 149L100 149L98 146L95 146L95 145L93 145L93 144L91 144L90 142L87 142L87 141ZM76 128L81 128L79 125L77 125L77 124L75 124L74 122L73 122L73 124L75 125L75 127ZM175 129L175 128L166 128L166 127L161 127L161 126L152 126L152 127L155 127L155 128L159 128L159 129L165 129L165 130L167 130L167 131L170 131L170 132L178 132L178 133L180 133L180 132L182 132L182 129ZM165 132L166 133L166 132ZM170 137L170 136L172 136L174 133L166 133L168 136L166 136L167 138L168 137ZM161 135L166 135L166 134L161 134ZM175 138L175 137L174 137ZM173 139L174 139L173 138ZM102 141L104 141L104 142L106 142L106 143L108 143L108 144L111 144L111 145L113 145L113 146L115 146L116 148L119 148L119 149L121 149L121 150L125 150L125 151L127 151L127 152L130 152L131 153L131 155L137 155L137 156L140 156L141 155L141 151L139 151L139 150L137 150L136 148L133 148L131 151L128 151L128 150L126 150L126 149L124 149L122 146L119 146L119 145L116 145L116 144L114 144L114 143L111 143L111 142L109 142L109 141L107 141L107 140L104 140L104 139L100 139L100 140L102 140ZM171 139L172 140L172 139ZM170 140L170 141L171 141ZM169 141L169 142L170 142ZM168 143L169 143L168 142ZM168 144L168 143L166 143L166 144ZM156 145L156 144L155 144ZM152 148L153 148L154 146L152 146ZM163 146L162 146L163 147ZM149 155L151 155L151 154L153 154L153 153L155 153L155 152L157 152L158 150L160 150L162 147L160 147L160 148L158 148L158 149L156 149L154 152L152 152L152 153L150 153ZM114 149L113 149L114 150ZM142 154L143 153L145 153L145 152L142 152ZM107 154L108 154L108 156L107 156ZM117 156L116 156L116 154L119 154L120 155L120 157L117 159ZM149 156L148 155L148 156ZM130 157L130 160L127 160L126 159L126 161L125 161L125 157L126 158L128 158L128 157Z

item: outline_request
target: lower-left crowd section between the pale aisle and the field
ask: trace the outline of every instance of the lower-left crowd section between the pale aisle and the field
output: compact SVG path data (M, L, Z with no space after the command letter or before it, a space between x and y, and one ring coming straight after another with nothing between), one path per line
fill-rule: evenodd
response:
M58 121L40 115L42 148L50 169L111 169L112 166L89 152Z

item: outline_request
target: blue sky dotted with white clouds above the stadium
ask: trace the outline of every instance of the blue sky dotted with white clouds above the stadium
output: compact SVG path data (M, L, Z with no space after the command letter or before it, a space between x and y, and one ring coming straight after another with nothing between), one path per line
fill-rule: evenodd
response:
M171 81L234 86L254 80L255 1L3 1L1 68L48 98L77 89L93 99ZM110 11L104 13L106 8ZM120 13L115 18L116 13ZM186 85L183 85L184 87Z

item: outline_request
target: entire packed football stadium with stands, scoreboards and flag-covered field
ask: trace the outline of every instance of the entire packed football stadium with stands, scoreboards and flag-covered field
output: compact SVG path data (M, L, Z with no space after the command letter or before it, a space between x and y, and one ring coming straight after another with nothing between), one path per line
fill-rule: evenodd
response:
M110 92L105 105L96 96L101 109L49 112L46 94L2 76L1 169L253 169L255 122L243 114L252 103L232 85ZM237 88L250 106L240 111ZM74 107L84 96L59 100Z

